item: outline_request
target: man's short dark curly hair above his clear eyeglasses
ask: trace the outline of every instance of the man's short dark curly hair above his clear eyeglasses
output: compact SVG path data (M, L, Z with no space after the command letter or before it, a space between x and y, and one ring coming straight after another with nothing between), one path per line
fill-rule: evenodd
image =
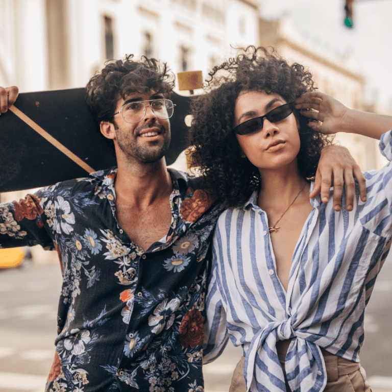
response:
M101 72L96 72L86 86L86 104L92 114L97 130L101 121L113 122L117 101L135 92L144 94L153 90L166 98L175 85L174 74L166 63L142 56L140 61L127 55L122 60L109 60ZM105 141L115 155L113 140Z

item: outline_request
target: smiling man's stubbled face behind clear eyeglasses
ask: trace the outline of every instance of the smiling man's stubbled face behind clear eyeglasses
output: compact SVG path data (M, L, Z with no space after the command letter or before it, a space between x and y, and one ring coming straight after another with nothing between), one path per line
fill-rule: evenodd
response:
M149 101L163 98L162 94L150 91L145 94L133 93L117 101L115 112L130 102ZM170 144L170 122L158 118L152 111L150 102L146 106L144 117L138 122L127 122L121 113L114 116L114 145L116 156L123 154L129 162L156 162L166 154Z

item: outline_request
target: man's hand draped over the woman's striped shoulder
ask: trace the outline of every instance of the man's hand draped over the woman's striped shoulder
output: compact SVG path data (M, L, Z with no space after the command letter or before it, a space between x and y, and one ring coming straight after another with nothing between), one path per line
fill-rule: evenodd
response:
M347 211L351 211L355 197L354 178L359 184L360 198L362 202L365 202L366 181L349 150L340 145L327 146L321 152L314 188L310 193L310 197L315 198L321 193L322 202L327 203L329 191L333 185L333 209L340 211L343 186L346 185L346 209Z

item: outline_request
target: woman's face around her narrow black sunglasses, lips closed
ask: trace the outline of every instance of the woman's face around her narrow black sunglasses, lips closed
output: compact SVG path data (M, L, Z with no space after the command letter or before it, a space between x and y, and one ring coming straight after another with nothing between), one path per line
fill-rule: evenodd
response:
M251 118L260 117L287 102L279 94L264 91L242 91L234 108L234 126ZM244 156L259 169L278 169L295 163L300 151L299 124L293 113L278 121L266 118L262 129L249 135L238 135Z

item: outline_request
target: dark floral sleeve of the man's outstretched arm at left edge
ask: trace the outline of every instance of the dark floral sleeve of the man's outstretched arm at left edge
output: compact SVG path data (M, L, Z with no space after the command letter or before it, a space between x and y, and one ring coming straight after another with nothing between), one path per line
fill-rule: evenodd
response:
M46 198L40 198L39 192L19 202L0 204L0 248L40 244L45 249L54 249L53 239L44 225Z

